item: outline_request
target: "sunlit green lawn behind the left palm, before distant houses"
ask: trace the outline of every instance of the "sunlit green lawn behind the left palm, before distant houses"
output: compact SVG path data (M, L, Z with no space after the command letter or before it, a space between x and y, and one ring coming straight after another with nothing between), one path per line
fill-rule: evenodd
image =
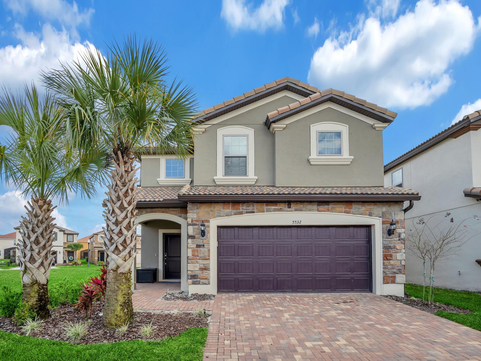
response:
M85 281L89 276L100 274L100 267L90 265L83 266L57 266L58 269L50 271L49 284L56 284L64 277L71 278L79 283ZM0 271L0 284L10 286L13 290L21 291L22 282L20 280L20 270Z

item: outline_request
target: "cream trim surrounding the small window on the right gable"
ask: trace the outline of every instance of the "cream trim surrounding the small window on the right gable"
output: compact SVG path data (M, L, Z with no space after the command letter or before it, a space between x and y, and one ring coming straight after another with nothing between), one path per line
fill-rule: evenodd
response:
M320 131L341 132L341 154L342 155L317 155L317 133ZM319 165L344 165L351 164L354 157L349 155L349 127L346 124L335 122L321 122L312 124L311 132L311 155L309 163L313 166Z

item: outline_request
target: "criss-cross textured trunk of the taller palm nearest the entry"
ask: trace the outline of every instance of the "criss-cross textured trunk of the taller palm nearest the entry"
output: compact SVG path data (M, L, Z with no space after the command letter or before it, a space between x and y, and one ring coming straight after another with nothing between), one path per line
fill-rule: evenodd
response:
M106 227L104 243L107 289L103 306L103 324L116 328L132 322L131 266L135 259L137 210L135 173L136 157L132 152L113 154L115 169L107 186L106 209L103 211Z

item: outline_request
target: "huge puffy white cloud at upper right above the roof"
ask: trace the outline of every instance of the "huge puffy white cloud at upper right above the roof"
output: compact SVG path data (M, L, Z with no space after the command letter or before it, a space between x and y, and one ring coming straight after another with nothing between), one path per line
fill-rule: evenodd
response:
M469 8L454 0L420 0L382 26L378 17L358 19L316 50L308 79L386 107L415 108L444 94L453 82L449 66L479 33Z

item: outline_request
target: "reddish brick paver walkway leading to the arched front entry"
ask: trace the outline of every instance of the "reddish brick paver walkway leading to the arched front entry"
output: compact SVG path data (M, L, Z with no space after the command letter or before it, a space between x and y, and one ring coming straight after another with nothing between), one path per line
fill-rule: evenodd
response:
M160 297L167 292L179 292L180 283L178 282L155 282L153 284L137 284L137 290L132 295L134 309L162 309L195 311L196 309L206 309L212 311L214 301L165 301Z

